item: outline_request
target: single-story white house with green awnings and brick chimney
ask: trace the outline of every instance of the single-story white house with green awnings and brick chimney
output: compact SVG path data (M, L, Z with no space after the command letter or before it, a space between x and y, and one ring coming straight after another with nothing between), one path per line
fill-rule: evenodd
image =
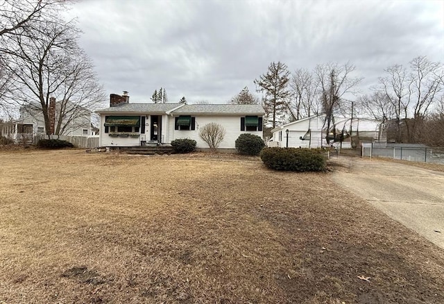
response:
M154 142L169 144L180 138L196 140L208 148L199 130L214 122L225 129L220 149L235 149L242 133L262 138L261 105L186 105L185 103L129 103L129 96L110 94L110 108L100 115L99 146L143 146Z

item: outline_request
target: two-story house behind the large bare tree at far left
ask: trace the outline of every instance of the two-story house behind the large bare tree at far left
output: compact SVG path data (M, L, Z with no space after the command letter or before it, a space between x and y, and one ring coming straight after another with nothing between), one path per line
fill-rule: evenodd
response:
M69 105L71 105L69 102L63 104L65 108L69 108ZM62 106L62 103L51 97L48 110L51 126L50 134L55 134L57 131L60 106ZM85 137L93 135L91 124L92 112L79 106L72 108L73 110L71 111L65 111L66 117L61 121L58 135ZM1 136L15 140L15 142L21 142L24 140L32 141L36 135L47 134L42 110L39 110L37 106L23 106L20 108L19 114L19 119L0 126Z

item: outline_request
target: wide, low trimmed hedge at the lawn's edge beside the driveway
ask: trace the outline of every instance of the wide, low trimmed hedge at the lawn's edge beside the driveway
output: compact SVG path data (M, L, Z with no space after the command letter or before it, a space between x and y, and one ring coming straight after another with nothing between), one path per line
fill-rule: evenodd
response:
M325 171L325 156L319 149L265 148L261 160L266 167L282 171Z

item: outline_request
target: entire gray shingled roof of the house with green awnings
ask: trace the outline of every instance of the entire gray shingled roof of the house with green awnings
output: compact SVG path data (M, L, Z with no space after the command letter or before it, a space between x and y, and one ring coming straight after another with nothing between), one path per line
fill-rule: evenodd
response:
M98 110L107 112L165 113L177 108L182 103L123 103L116 107ZM262 105L183 105L172 112L173 115L264 115Z

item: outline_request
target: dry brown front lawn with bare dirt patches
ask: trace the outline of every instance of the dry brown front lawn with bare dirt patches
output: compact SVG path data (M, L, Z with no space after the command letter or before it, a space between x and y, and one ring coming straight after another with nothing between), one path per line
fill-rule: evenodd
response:
M443 303L443 273L441 249L329 174L0 152L0 303Z

